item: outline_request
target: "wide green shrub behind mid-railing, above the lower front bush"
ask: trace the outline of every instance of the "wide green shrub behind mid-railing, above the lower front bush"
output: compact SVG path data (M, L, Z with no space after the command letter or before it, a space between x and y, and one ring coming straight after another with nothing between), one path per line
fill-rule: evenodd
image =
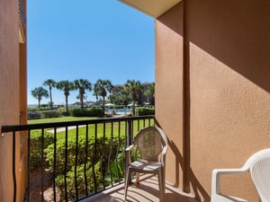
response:
M121 139L120 141L120 145L123 145L123 139ZM70 171L71 168L75 166L75 164L80 165L82 163L85 163L85 136L78 136L77 142L78 154L76 162L76 137L71 137L67 141L67 171ZM118 138L115 137L112 140L112 159L115 157L117 145ZM66 161L66 140L58 140L56 147L56 174L64 174ZM94 136L88 137L86 161L91 163L90 166L92 166L96 162L101 161L101 159L103 159L103 162L108 162L110 149L111 141L108 137L97 137L96 142L94 140ZM45 149L44 153L46 154L46 162L48 162L49 164L49 171L54 171L54 145L49 145L47 149Z

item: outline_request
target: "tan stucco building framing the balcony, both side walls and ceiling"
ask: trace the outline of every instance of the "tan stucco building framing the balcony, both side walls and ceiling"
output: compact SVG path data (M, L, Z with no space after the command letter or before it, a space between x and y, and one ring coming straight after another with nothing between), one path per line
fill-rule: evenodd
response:
M169 139L166 180L210 201L211 171L240 167L270 147L270 2L122 0L156 18L156 119ZM24 9L19 9L23 4ZM76 4L76 2L74 2ZM0 1L0 127L26 122L25 0ZM26 153L16 137L16 201ZM12 136L0 137L0 201L12 201ZM250 178L231 195L257 201Z

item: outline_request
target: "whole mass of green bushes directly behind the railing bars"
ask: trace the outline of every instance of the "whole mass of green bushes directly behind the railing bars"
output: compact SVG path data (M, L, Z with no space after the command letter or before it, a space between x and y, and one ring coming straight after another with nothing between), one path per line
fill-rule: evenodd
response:
M44 169L54 173L52 176L55 176L56 186L62 190L62 198L65 196L65 179L70 199L76 198L76 188L78 196L83 196L86 192L93 193L95 188L98 190L110 185L111 180L122 180L123 136L94 137L89 134L86 138L85 134L79 134L77 138L68 136L67 141L58 139L56 144L54 141L54 135L48 132L44 132L43 137L40 130L31 134L31 171L40 168L43 142Z

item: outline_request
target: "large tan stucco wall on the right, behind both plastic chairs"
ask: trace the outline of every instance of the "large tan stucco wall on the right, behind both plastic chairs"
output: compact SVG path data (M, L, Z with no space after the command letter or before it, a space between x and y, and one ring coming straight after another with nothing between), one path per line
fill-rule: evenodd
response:
M210 200L212 169L240 167L270 147L269 13L268 1L187 0L156 21L157 121L171 144L166 180L201 201ZM222 187L257 201L248 175Z

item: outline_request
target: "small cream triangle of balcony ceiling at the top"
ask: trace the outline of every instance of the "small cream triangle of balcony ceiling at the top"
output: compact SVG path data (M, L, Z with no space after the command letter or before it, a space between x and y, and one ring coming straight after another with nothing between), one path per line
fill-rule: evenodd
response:
M157 18L182 0L119 0L154 18Z

